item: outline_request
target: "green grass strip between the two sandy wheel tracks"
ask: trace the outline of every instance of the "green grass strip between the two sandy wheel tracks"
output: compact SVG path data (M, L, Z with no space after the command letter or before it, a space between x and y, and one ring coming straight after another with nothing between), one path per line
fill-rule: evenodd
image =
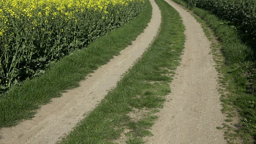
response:
M169 82L179 65L185 36L182 20L164 0L156 0L161 12L160 31L142 58L124 75L116 88L82 120L61 144L113 144L124 129L126 143L143 144L144 136L154 124ZM130 114L140 119L134 120ZM141 114L142 113L142 114Z

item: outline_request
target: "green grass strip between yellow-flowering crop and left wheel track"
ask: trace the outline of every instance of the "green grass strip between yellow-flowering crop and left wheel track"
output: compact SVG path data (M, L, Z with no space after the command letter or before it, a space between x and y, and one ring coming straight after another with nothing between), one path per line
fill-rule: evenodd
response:
M46 70L46 74L26 80L21 86L11 88L8 94L0 96L0 128L14 126L21 120L32 118L41 105L79 86L85 76L132 44L150 22L152 7L148 1L146 5L138 18L98 38L84 50L64 57Z

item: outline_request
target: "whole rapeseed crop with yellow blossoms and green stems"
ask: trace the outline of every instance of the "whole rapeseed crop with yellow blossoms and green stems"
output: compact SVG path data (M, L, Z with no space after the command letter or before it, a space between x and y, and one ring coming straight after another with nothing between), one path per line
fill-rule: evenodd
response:
M0 93L134 19L144 0L1 0Z

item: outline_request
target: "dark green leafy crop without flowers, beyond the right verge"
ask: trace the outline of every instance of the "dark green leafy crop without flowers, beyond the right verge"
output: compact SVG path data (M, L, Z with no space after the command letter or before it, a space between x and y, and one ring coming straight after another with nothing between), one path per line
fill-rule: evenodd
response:
M228 20L256 44L256 0L184 0L191 7L210 10ZM256 46L254 46L254 49Z

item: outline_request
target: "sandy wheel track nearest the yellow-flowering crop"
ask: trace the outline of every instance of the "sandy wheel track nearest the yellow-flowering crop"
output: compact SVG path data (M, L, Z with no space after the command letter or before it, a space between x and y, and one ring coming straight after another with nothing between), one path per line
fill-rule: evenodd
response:
M60 98L52 99L38 110L32 120L26 120L12 128L0 131L0 144L51 144L68 134L104 98L107 91L116 86L134 62L150 45L160 27L161 14L158 6L150 0L153 14L148 27L132 45L120 52L108 64L100 67L80 87L69 90Z

